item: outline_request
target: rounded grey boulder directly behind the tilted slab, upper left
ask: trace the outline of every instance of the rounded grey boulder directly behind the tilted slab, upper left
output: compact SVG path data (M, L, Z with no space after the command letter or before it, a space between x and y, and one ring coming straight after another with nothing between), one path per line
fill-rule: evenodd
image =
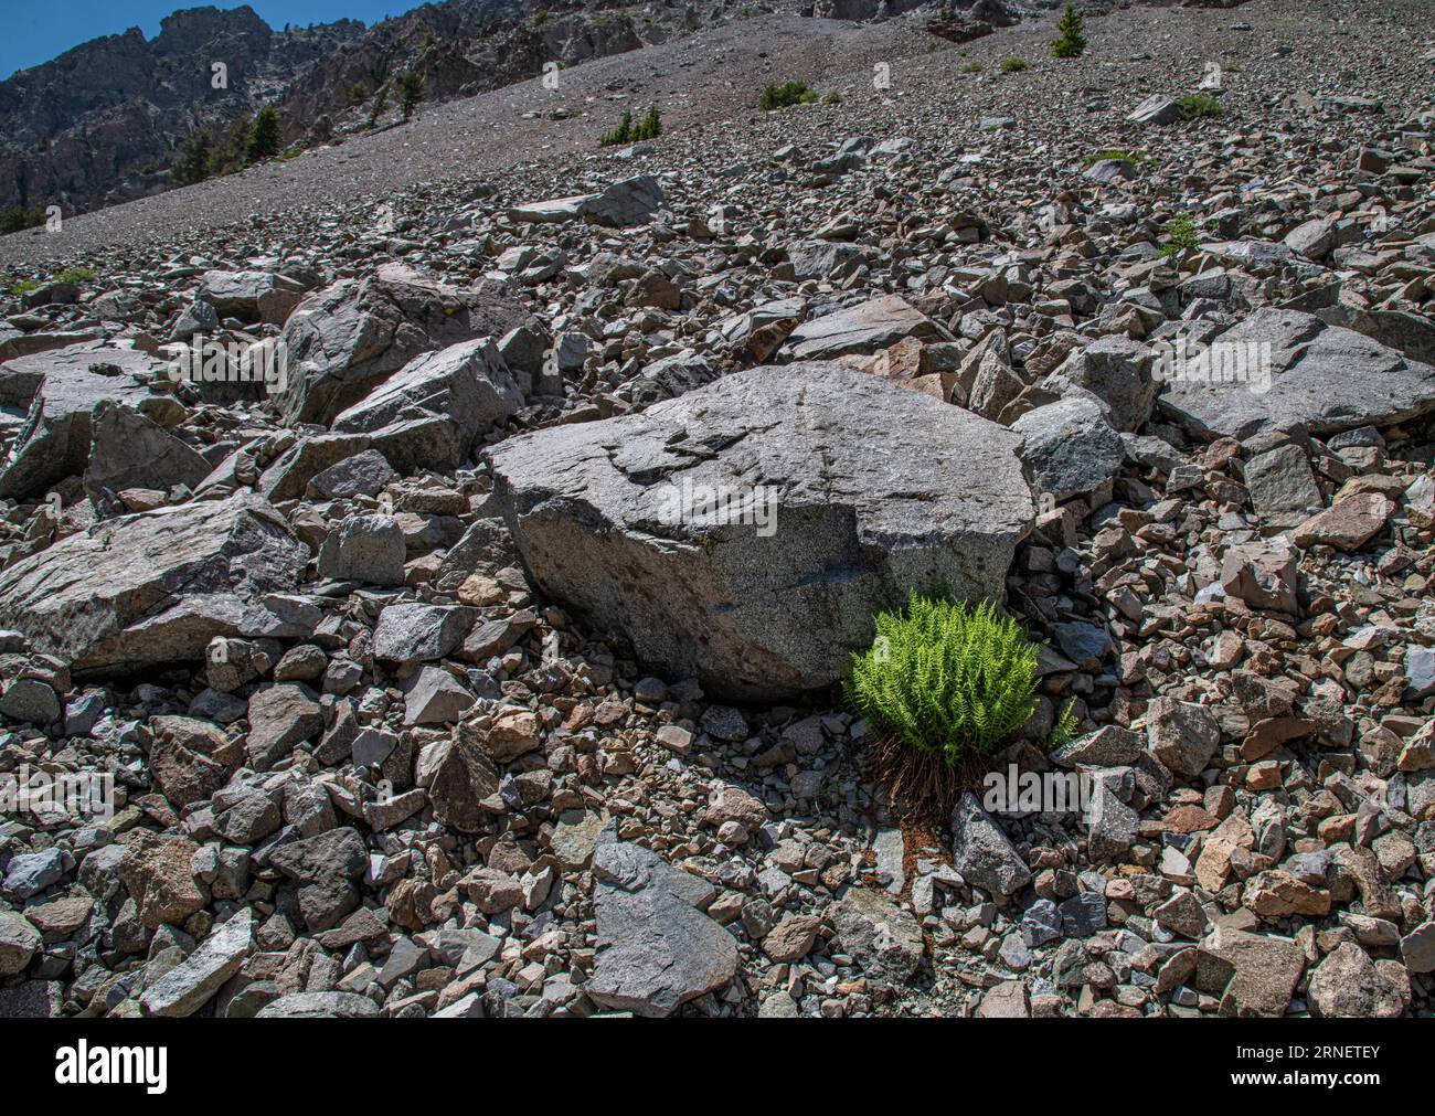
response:
M385 264L300 303L283 336L288 384L273 400L287 423L327 426L415 357L534 321L497 280L452 287Z

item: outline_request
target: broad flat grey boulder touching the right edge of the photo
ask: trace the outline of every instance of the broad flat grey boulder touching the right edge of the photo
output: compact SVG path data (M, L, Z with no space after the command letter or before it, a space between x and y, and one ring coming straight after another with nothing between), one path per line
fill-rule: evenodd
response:
M1329 435L1435 412L1435 367L1299 310L1257 310L1210 353L1168 369L1159 399L1205 435L1250 438L1290 423Z

